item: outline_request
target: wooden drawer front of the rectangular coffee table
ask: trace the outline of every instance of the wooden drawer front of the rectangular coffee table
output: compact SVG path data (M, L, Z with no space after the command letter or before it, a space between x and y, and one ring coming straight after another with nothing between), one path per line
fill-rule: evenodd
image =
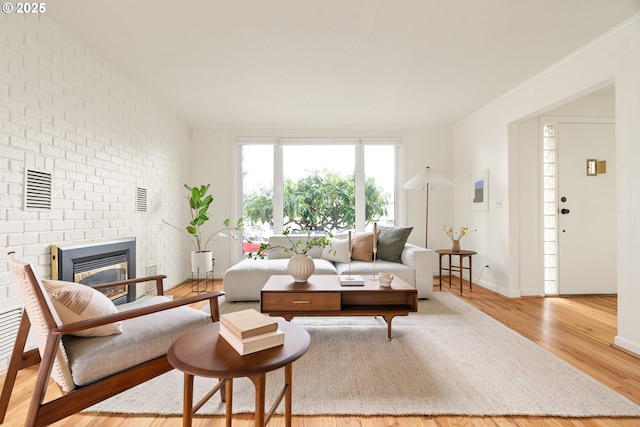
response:
M262 311L340 310L339 292L263 292Z

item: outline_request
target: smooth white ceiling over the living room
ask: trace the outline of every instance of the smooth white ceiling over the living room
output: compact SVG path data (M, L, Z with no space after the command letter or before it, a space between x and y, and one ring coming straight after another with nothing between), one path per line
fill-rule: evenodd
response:
M449 126L640 0L55 0L192 126Z

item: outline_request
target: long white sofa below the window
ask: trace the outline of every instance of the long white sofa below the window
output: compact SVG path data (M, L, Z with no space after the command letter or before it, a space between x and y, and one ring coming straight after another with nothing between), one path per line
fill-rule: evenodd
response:
M306 236L295 236L295 241L305 240ZM343 236L334 239L343 239ZM334 240L335 241L335 240ZM288 246L285 236L269 238L272 247ZM349 263L338 261L335 255L313 248L308 252L313 258L316 269L313 274L346 274ZM259 301L260 290L269 277L274 274L289 274L287 264L291 252L270 251L265 259L244 259L229 268L223 279L225 300L227 301ZM432 251L409 243L404 245L401 262L376 261L377 273L392 273L418 290L418 298L430 298L433 295L433 270L431 267ZM352 274L373 274L373 262L352 261Z

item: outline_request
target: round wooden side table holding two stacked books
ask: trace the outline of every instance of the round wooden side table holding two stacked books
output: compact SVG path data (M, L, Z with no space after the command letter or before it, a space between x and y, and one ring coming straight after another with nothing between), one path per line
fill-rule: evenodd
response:
M220 323L201 326L178 338L169 348L167 359L184 372L182 425L191 426L193 414L218 390L224 392L226 425L231 426L233 378L248 377L255 387L255 425L264 426L285 399L285 425L291 427L292 364L311 345L309 333L300 326L276 319L284 332L284 345L241 356L223 338ZM284 386L265 415L266 373L284 366ZM193 404L194 376L219 378L218 384L198 403Z

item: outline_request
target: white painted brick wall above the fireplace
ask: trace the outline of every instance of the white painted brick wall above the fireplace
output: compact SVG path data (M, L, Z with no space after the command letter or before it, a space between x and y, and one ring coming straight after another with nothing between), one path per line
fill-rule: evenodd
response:
M9 251L48 278L51 244L133 236L138 277L189 277L188 241L161 222L186 222L188 145L183 121L46 16L1 15L0 312L22 305ZM53 174L52 210L23 210L25 167Z

